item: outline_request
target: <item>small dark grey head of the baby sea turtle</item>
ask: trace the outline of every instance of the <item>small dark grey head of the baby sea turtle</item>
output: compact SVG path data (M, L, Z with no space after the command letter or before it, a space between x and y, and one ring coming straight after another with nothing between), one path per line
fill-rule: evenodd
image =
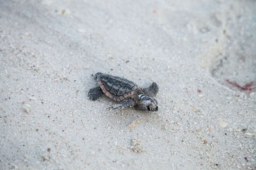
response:
M146 96L144 94L140 94L138 96L139 103L138 108L143 111L158 111L157 101L156 99Z

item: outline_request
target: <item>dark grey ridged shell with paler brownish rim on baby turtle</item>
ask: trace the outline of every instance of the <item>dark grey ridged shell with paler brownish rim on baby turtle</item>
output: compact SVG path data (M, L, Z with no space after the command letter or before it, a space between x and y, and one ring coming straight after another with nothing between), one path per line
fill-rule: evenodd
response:
M127 97L131 97L136 90L140 89L136 83L125 78L104 73L97 73L96 77L100 89L102 89L106 96L115 101L123 101Z

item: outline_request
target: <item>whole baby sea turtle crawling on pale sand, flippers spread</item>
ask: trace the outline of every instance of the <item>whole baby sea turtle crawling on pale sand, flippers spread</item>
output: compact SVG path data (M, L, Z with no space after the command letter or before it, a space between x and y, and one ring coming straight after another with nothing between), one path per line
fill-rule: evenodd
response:
M153 98L158 92L158 86L155 82L150 87L141 89L132 81L109 74L97 73L96 79L99 87L89 90L88 97L90 99L95 101L105 94L109 98L121 102L107 108L108 110L127 107L136 107L143 111L158 110L157 101Z

